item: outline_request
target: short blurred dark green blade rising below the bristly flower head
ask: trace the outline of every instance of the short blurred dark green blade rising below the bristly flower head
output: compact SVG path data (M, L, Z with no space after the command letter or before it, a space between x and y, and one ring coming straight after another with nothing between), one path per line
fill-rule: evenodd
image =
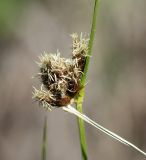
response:
M47 150L47 117L44 118L41 160L46 160Z

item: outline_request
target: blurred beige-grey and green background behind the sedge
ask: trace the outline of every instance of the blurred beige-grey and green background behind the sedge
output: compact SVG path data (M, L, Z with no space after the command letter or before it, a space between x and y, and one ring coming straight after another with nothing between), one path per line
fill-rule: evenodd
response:
M71 56L73 32L90 33L93 0L0 0L0 160L81 160L76 117L32 100L35 61ZM146 1L102 0L84 112L146 151ZM140 160L138 152L86 125L89 160Z

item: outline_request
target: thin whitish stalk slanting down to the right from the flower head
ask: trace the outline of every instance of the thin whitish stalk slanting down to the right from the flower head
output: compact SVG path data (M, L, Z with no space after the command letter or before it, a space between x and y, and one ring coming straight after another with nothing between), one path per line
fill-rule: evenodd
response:
M68 105L67 107L63 107L63 110L70 112L74 115L76 115L77 117L81 118L82 120L84 120L85 122L89 123L90 125L94 126L95 128L97 128L98 130L100 130L101 132L107 134L108 136L112 137L113 139L123 143L124 145L127 145L131 148L133 148L134 150L140 152L141 154L143 154L144 156L146 156L146 153L144 151L142 151L140 148L138 148L137 146L135 146L134 144L132 144L131 142L125 140L124 138L120 137L119 135L115 134L114 132L104 128L103 126L99 125L98 123L94 122L92 119L90 119L89 117L87 117L86 115L80 113L79 111L77 111L75 108L73 108L72 106Z

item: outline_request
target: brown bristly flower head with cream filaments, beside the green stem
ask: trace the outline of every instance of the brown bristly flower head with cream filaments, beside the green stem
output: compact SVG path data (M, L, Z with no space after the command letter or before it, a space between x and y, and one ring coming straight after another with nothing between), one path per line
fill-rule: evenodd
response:
M62 107L70 104L79 93L81 76L88 51L88 39L72 34L72 58L61 58L60 53L42 54L38 66L42 85L34 88L33 98L45 108Z

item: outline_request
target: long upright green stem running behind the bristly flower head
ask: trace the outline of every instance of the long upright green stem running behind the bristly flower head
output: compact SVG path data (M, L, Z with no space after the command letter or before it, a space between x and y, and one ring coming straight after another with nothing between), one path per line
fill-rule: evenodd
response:
M81 86L85 86L85 83L86 83L87 71L89 67L90 57L91 57L92 48L93 48L93 41L94 41L95 31L96 31L96 17L97 17L98 6L99 6L99 0L95 0L94 11L93 11L93 16L92 16L92 27L91 27L91 32L90 32L90 40L88 44L88 56L86 58L84 74L81 79ZM84 93L85 93L85 89L83 88L77 97L76 108L81 113L82 113ZM78 126L79 126L79 135L80 135L80 145L81 145L81 151L82 151L82 160L88 160L85 126L84 126L84 121L80 118L78 118Z

